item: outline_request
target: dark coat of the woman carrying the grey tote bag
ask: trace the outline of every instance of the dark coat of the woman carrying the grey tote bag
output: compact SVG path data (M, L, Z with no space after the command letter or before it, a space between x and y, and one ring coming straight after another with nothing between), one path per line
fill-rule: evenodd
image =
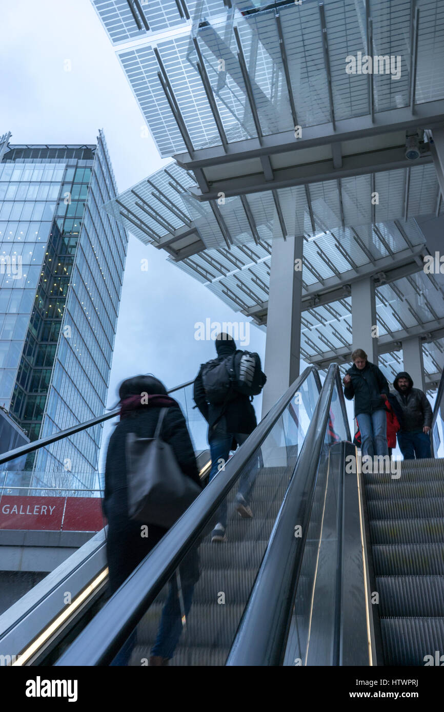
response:
M128 518L126 491L126 436L133 432L139 437L153 437L159 414L160 407L146 406L133 410L118 423L108 442L103 511L108 520L110 593L118 589L167 531L147 522L148 537L144 537L142 523ZM172 406L167 409L160 436L172 446L184 475L201 486L190 434L179 407ZM195 573L198 577L198 573Z

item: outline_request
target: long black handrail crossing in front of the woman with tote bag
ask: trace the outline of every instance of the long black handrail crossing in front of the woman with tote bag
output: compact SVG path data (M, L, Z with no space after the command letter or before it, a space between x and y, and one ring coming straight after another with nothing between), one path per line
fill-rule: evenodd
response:
M196 543L212 515L241 475L244 466L282 416L294 393L311 374L314 375L320 392L318 371L313 366L306 367L248 436L242 447L229 459L224 470L202 491L58 659L55 663L57 666L108 665L113 660L162 587L172 577L183 557Z

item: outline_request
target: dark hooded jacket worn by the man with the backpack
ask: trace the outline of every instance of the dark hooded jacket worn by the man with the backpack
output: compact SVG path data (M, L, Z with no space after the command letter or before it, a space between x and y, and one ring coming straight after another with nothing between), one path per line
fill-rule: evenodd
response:
M236 351L233 340L216 340L217 360L231 356ZM242 433L249 435L257 426L256 414L249 397L242 393L236 395L227 404L212 404L207 402L205 388L202 382L202 364L195 379L194 401L208 423L208 438L211 439L215 428L227 433Z

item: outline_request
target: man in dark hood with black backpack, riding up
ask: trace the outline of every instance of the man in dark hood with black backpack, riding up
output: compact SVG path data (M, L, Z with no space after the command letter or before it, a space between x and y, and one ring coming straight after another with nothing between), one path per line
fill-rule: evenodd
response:
M229 451L242 445L257 426L250 397L261 392L267 380L256 353L238 351L229 334L216 337L217 358L204 363L195 379L194 400L208 423L211 452L210 481L224 469ZM236 509L241 517L252 518L249 507L254 477L244 473L239 479ZM217 513L212 542L226 541L227 501Z

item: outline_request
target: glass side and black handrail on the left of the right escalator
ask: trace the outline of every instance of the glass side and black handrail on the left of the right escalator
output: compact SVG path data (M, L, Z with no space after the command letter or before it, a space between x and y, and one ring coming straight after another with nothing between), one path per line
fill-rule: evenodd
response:
M356 452L349 439L339 369L331 365L228 666L339 664L344 495L349 496L344 454L349 447ZM356 473L351 483L357 491ZM359 537L356 543L361 549ZM347 551L345 558L353 555ZM362 578L362 563L360 571Z

